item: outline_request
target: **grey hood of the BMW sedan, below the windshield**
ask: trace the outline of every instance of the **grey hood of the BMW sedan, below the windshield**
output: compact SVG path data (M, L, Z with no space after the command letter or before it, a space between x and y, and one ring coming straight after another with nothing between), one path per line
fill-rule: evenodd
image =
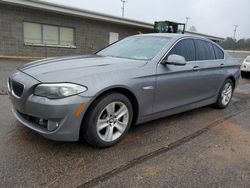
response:
M70 82L78 78L128 70L143 66L147 61L97 55L49 58L27 63L18 68L40 82Z

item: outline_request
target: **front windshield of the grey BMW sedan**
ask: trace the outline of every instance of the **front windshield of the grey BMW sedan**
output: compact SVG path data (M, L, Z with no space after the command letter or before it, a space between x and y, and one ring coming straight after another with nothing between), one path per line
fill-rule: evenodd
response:
M150 60L166 45L171 38L135 36L125 38L97 52L100 56Z

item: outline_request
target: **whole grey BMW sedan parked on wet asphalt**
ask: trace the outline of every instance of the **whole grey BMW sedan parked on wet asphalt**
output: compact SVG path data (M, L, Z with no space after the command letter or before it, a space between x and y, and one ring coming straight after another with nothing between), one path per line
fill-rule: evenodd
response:
M18 121L56 141L118 143L132 124L213 104L226 108L240 65L189 35L125 38L94 55L25 64L8 79Z

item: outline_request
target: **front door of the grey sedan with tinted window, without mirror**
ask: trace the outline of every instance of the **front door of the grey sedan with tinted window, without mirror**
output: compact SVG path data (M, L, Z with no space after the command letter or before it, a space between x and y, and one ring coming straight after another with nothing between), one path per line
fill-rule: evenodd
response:
M201 100L199 87L199 66L195 61L193 39L182 39L175 44L165 59L171 54L185 57L185 66L157 65L157 86L154 113L181 107Z

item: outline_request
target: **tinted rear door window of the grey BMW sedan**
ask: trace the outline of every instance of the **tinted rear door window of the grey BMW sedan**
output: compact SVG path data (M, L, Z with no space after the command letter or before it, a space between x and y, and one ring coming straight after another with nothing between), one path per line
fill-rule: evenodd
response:
M213 60L215 59L214 49L211 43L203 40L195 40L196 60Z

